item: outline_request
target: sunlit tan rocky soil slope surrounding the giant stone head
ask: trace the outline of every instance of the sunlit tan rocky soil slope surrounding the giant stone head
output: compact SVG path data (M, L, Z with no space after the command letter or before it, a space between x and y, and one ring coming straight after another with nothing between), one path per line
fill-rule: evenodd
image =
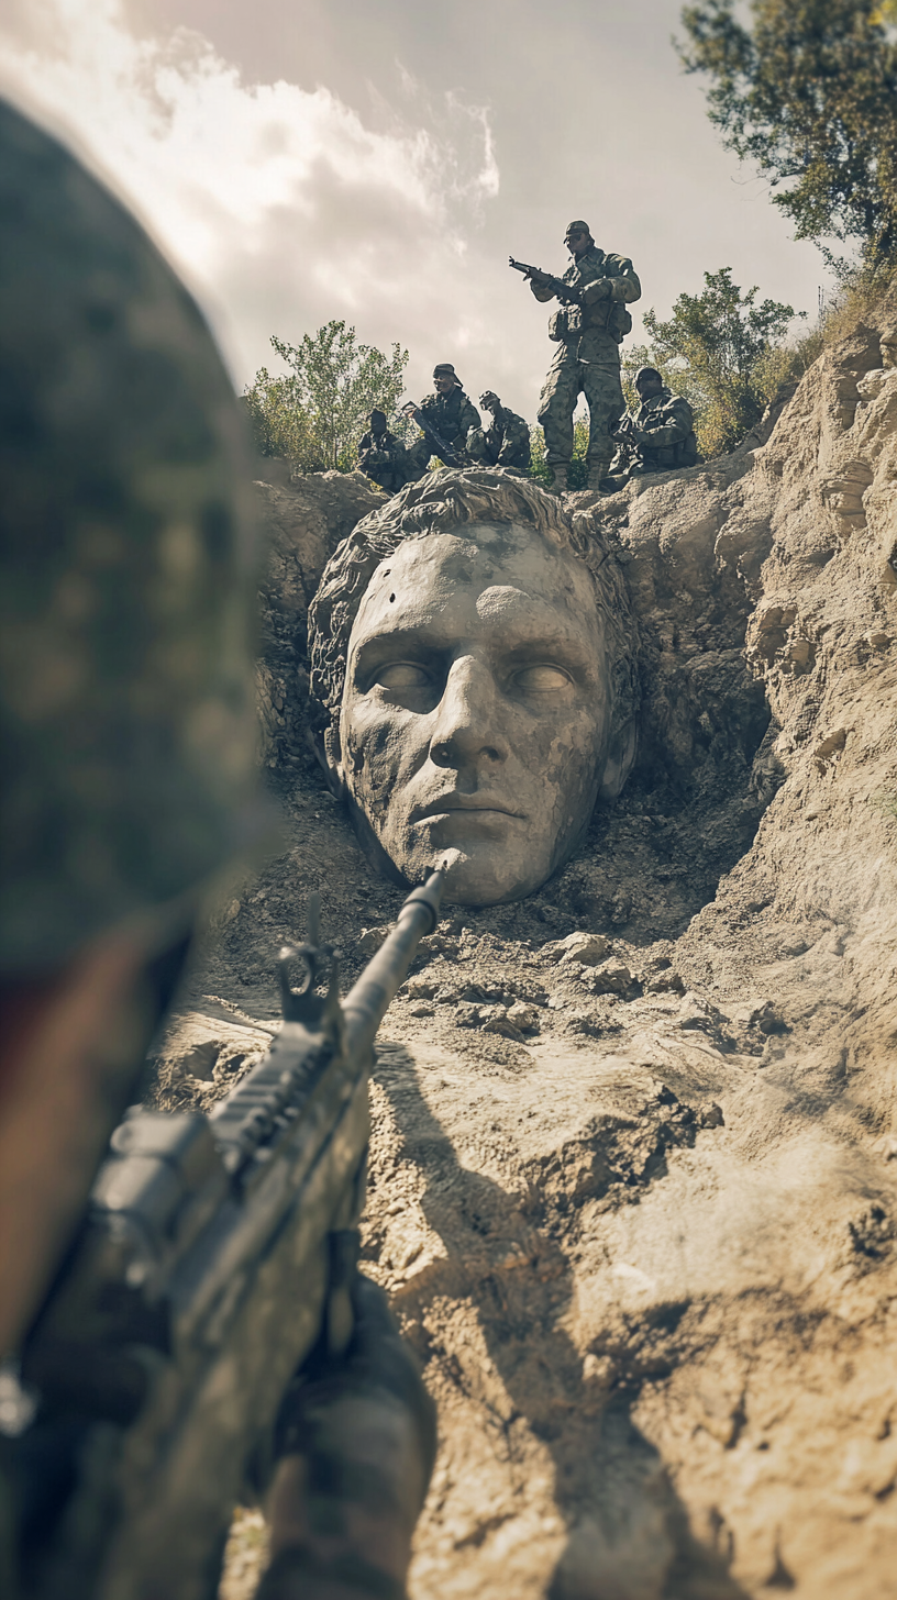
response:
M895 358L859 328L769 437L569 498L630 582L638 770L538 896L448 909L372 1085L365 1270L440 1410L413 1600L894 1587ZM378 496L258 493L282 845L215 920L165 1104L264 1048L311 890L348 979L402 899L306 741L308 600Z

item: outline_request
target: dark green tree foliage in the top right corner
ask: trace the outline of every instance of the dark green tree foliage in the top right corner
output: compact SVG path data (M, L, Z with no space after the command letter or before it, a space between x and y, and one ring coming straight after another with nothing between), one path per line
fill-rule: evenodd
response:
M686 69L710 78L722 142L769 176L796 238L857 242L865 266L892 259L895 0L750 0L748 26L738 11L689 5L676 42Z

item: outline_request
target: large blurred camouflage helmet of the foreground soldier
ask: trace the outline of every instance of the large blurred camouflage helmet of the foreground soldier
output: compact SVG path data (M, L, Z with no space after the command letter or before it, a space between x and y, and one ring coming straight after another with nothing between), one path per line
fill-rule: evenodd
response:
M234 390L138 222L0 102L0 978L168 938L255 830Z

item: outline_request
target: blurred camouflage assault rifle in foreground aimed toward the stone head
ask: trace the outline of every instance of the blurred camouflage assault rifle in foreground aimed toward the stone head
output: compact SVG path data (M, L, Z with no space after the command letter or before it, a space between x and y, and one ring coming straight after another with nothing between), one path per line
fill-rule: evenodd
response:
M408 896L343 1003L316 896L308 942L280 950L284 1022L264 1059L210 1117L133 1109L115 1130L26 1344L19 1398L37 1413L2 1440L32 1526L26 1595L216 1594L234 1504L271 1458L296 1366L352 1333L373 1042L442 885L434 872ZM6 1373L6 1435L8 1390Z

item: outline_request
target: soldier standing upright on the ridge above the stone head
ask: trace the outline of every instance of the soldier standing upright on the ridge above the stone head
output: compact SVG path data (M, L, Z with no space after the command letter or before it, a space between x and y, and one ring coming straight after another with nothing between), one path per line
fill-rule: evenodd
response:
M570 222L565 245L573 261L564 283L575 293L577 304L559 306L548 325L557 354L538 405L545 454L559 491L567 488L573 411L580 394L585 394L589 408L588 486L599 488L607 474L613 454L610 429L626 410L620 384L620 342L633 326L626 306L642 291L633 262L599 250L588 222ZM530 288L538 301L554 298L551 283L535 272L530 274Z

